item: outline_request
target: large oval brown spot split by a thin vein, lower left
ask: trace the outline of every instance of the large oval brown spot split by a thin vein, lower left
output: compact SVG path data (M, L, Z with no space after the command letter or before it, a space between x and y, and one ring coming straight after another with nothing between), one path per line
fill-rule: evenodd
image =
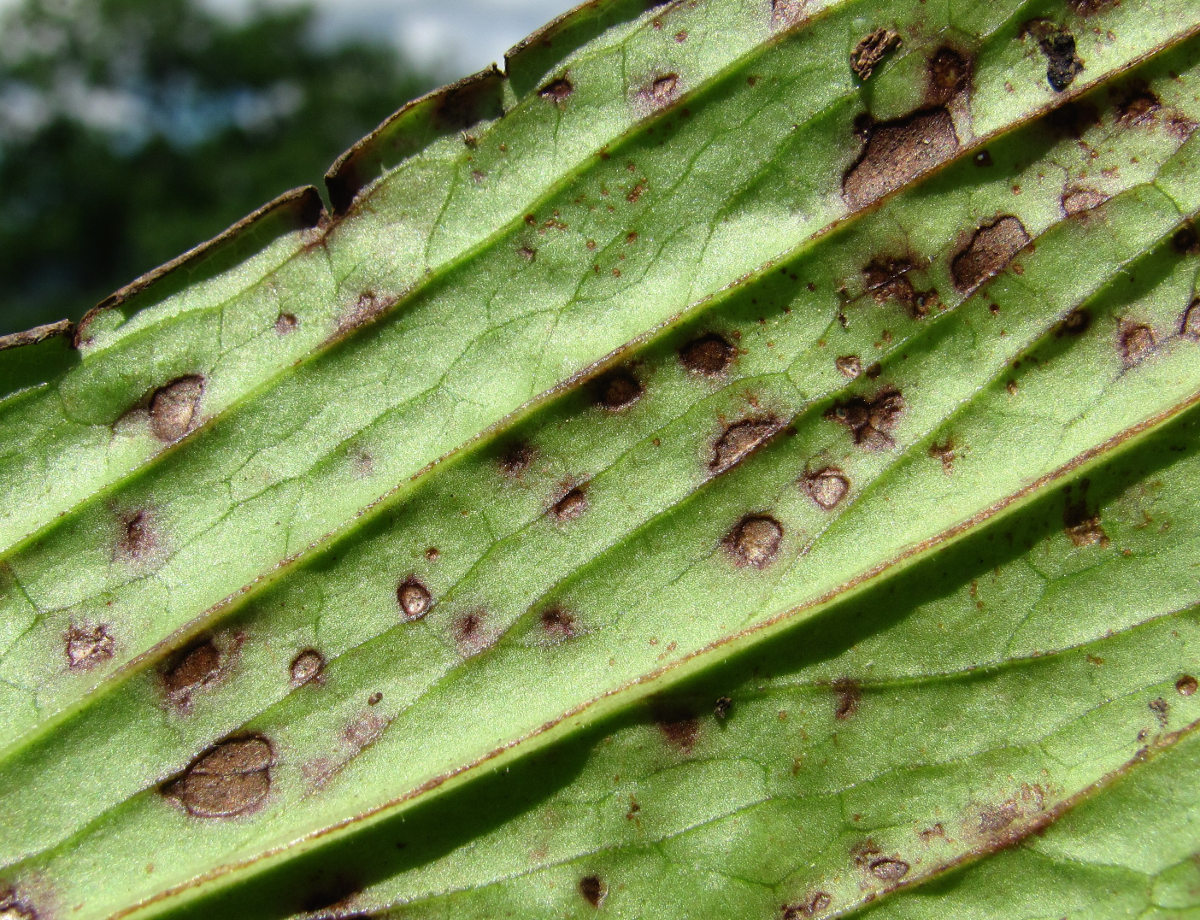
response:
M275 753L262 735L220 741L162 787L197 818L232 818L262 805L271 788Z

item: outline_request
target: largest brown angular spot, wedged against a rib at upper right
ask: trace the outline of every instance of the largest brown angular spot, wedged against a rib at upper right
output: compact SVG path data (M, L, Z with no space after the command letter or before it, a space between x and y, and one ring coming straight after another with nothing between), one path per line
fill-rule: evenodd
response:
M842 196L852 208L864 208L958 152L959 136L944 107L870 125L858 160L842 179Z

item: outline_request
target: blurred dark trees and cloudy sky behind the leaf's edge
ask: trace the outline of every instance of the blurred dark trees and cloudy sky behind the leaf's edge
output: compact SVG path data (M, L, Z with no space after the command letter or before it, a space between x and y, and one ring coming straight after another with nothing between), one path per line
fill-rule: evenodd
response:
M0 0L0 335L298 185L572 0Z

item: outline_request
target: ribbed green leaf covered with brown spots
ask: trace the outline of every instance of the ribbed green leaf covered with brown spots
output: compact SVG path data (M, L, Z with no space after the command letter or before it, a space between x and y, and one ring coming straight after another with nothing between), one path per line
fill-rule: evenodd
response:
M0 910L1194 908L1135 6L581 7L0 343Z

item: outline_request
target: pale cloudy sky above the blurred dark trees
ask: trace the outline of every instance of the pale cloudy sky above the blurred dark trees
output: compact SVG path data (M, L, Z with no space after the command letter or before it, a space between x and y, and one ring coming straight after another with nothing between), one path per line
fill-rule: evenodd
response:
M13 0L0 0L0 7L10 2ZM253 0L205 2L238 16L251 8ZM504 52L575 6L575 0L313 0L313 6L320 13L324 35L385 37L418 64L449 79L500 61Z

